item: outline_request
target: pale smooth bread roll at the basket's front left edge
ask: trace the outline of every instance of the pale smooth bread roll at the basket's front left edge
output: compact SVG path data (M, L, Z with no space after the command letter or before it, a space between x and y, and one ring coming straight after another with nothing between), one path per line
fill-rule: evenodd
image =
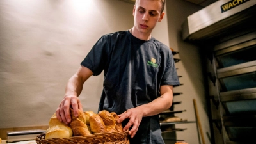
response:
M72 136L72 129L65 125L56 125L49 127L45 134L45 140L51 138L70 138Z

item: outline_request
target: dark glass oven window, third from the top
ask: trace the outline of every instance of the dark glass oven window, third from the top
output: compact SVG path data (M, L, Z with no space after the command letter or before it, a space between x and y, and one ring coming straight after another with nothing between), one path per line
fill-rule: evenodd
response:
M256 115L256 99L225 102L230 115Z

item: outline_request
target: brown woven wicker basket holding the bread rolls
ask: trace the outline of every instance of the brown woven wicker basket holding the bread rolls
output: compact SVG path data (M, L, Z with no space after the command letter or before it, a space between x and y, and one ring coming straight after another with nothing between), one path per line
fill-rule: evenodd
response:
M91 136L72 136L70 138L52 138L45 140L45 134L36 136L35 141L38 144L129 144L127 138L128 132L102 132L92 134Z

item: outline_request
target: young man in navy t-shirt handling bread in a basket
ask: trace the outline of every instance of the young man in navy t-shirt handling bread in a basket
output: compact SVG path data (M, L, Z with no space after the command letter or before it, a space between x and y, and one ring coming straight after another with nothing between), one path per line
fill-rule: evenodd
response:
M77 115L84 82L104 70L99 111L115 111L130 143L164 143L158 114L170 108L173 85L179 85L172 51L151 36L164 17L164 0L136 0L134 26L102 36L67 83L56 110L60 121L70 122L70 105Z

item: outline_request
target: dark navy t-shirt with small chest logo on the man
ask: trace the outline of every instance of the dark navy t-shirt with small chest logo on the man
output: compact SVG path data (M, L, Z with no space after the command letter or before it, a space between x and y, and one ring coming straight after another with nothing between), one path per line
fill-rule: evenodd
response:
M94 76L104 70L99 111L115 111L118 115L152 102L160 96L160 86L180 84L172 51L155 38L140 40L129 31L102 36L81 65L92 70ZM132 141L164 143L158 115L143 118Z

